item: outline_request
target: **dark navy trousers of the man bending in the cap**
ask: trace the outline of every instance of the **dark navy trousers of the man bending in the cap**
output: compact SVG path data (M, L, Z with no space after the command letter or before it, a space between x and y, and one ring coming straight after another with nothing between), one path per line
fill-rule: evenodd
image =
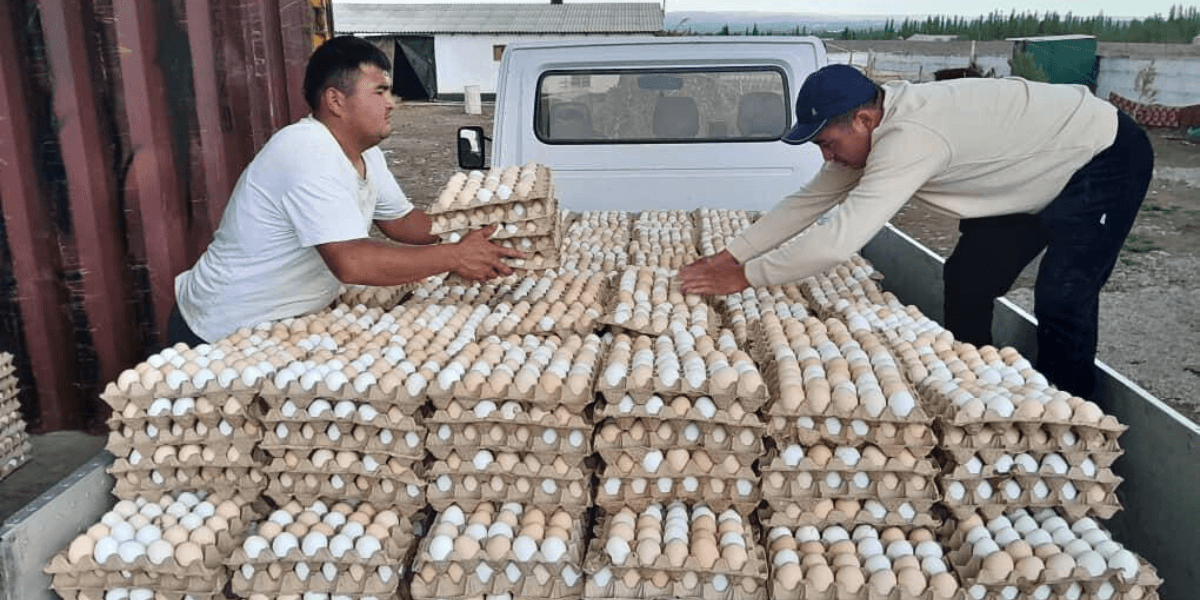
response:
M1146 132L1118 114L1112 145L1079 169L1037 215L967 218L946 260L946 326L991 343L992 301L1044 248L1034 286L1037 368L1062 390L1096 390L1099 294L1133 227L1154 168Z

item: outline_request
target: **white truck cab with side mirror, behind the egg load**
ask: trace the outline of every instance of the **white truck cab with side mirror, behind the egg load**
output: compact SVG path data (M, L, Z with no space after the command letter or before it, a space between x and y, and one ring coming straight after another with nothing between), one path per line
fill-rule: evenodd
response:
M766 210L821 167L780 142L800 83L826 65L815 37L520 42L500 62L492 164L550 166L574 210ZM460 130L460 166L486 163Z

